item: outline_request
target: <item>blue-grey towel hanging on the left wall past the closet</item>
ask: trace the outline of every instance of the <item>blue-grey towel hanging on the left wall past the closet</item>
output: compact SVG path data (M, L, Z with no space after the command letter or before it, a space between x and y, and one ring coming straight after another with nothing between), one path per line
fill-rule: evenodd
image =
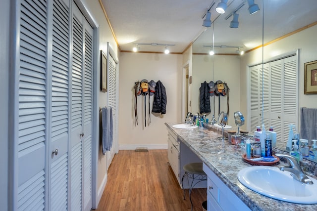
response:
M113 139L113 123L111 107L102 108L103 112L103 154L110 151Z

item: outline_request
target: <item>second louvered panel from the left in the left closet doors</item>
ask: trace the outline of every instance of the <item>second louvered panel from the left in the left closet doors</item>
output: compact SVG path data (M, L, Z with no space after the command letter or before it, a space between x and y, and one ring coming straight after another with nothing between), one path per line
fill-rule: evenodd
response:
M50 210L67 210L69 140L69 2L53 0Z

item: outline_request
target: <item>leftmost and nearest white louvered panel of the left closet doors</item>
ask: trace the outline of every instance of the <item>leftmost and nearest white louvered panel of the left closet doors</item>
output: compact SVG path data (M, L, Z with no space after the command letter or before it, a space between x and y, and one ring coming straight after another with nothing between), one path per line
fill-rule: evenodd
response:
M47 36L45 0L22 0L18 56L17 199L13 209L45 209L45 166L48 133Z

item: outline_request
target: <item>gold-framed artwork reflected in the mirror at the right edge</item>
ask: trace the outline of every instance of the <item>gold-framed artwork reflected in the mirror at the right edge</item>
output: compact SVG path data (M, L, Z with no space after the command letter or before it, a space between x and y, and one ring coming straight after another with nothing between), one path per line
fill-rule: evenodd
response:
M317 60L304 66L304 94L317 94Z

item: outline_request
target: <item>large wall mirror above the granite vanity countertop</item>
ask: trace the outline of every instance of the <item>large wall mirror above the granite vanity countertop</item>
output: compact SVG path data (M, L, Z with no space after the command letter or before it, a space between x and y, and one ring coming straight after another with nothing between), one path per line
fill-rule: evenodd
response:
M279 133L276 147L285 150L288 125L296 125L299 132L300 108L317 108L317 95L304 94L304 64L317 60L317 1L254 2L260 10L252 15L247 0L228 0L221 15L211 7L213 23L192 46L192 112L199 112L202 83L226 82L228 96L210 97L207 118L229 108L228 125L235 127L233 113L241 111L243 129L253 133L256 125L267 130L272 126ZM238 28L229 27L234 12ZM241 50L244 55L239 55Z

